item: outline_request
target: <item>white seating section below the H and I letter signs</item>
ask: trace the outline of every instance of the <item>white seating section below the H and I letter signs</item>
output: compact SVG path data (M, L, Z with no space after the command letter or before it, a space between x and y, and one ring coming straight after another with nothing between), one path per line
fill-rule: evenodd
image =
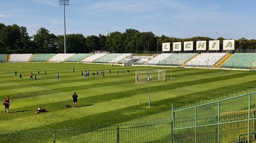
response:
M212 67L225 55L227 55L227 53L201 53L199 56L186 63L186 66Z

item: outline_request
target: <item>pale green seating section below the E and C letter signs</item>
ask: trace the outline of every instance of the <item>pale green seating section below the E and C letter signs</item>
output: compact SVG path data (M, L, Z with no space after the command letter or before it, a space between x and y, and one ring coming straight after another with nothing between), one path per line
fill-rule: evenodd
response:
M167 56L165 59L159 61L156 65L180 66L195 55L197 55L197 53L172 53L170 56Z

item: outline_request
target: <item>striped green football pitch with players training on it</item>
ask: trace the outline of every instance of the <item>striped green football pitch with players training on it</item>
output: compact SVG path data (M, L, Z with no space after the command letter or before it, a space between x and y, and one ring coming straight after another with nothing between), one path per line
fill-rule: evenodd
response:
M81 63L7 63L0 64L0 67L0 100L3 102L10 98L9 114L3 112L2 105L1 132L52 127L73 129L172 118L172 105L185 106L252 89L256 85L256 71L244 70L112 67L111 64ZM125 75L122 75L122 68ZM145 84L135 83L135 71L156 68L166 69L166 82L150 83L151 107L148 107L148 81ZM29 73L35 75L38 70L40 76L37 80L34 81L34 76L29 80ZM89 70L89 78L81 77L81 70ZM96 70L99 76L93 78L92 73ZM101 70L105 70L105 77L100 76ZM126 70L130 70L129 75ZM19 80L20 73L23 80ZM66 107L67 104L72 106L74 92L79 97L78 107ZM45 108L47 112L35 114L38 107Z

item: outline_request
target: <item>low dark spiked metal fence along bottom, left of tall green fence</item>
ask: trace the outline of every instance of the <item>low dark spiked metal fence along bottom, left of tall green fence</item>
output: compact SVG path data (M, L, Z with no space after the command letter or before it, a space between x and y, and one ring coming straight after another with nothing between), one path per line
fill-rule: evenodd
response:
M172 120L0 133L1 143L171 143Z

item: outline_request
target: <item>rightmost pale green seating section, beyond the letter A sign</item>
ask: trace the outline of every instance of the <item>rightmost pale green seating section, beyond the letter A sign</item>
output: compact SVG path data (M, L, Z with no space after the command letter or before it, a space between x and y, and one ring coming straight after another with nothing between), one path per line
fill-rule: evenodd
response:
M256 53L235 53L221 67L252 68L256 67Z

